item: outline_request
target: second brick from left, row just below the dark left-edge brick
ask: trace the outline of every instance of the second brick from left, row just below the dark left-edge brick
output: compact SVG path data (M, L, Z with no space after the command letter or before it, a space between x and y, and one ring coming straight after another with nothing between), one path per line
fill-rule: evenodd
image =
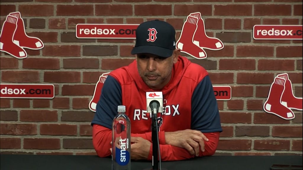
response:
M40 135L77 135L77 125L41 124Z

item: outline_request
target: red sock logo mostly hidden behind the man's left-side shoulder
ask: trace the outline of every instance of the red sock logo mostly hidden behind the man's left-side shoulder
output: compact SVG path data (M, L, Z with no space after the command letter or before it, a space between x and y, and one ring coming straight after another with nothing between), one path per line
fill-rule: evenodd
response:
M102 87L103 87L103 84L108 76L110 72L108 73L103 73L100 77L99 77L99 80L95 86L95 91L94 91L94 95L93 95L93 98L92 100L89 102L88 104L88 108L90 110L92 110L93 112L96 112L96 107L97 107L97 103L100 99L100 96L101 96L101 91L102 91Z

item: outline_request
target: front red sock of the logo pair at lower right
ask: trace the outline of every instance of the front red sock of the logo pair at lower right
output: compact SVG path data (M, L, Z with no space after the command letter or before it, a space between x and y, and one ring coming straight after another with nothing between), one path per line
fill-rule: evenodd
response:
M285 92L285 79L275 77L271 84L268 98L263 105L263 109L267 113L275 114L283 119L293 119L295 114L281 104L282 94Z

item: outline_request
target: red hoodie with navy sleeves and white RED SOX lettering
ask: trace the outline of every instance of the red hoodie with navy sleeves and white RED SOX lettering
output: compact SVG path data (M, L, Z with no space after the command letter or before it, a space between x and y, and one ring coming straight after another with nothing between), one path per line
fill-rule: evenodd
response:
M126 106L131 120L131 136L151 142L151 118L146 113L146 92L150 89L138 73L137 62L112 71L104 83L97 111L92 121L93 145L100 157L111 155L112 119L118 105ZM222 131L217 101L207 71L186 57L178 57L172 78L162 90L166 100L166 113L162 116L159 132L161 160L181 160L195 157L186 149L167 145L165 131L185 129L200 130L209 139L205 152L199 156L213 155ZM152 159L152 145L148 160Z

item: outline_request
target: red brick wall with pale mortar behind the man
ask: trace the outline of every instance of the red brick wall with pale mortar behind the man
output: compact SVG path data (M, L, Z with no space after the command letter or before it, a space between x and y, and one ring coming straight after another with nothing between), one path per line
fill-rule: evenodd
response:
M263 111L271 83L288 73L302 97L302 41L254 40L254 25L302 25L302 0L1 0L6 15L20 11L29 36L45 47L16 59L0 53L1 83L55 85L55 98L1 99L0 152L95 154L88 109L102 73L132 62L134 40L77 39L78 23L140 24L166 20L180 35L191 12L201 12L208 36L225 45L192 62L208 70L214 85L231 86L218 101L221 133L216 155L302 155L302 111L285 120Z

